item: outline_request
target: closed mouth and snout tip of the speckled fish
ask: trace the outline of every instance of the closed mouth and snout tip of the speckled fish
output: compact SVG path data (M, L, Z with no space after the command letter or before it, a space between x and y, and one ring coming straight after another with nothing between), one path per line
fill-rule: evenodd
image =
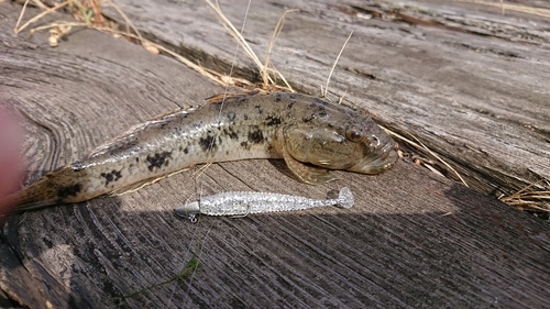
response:
M349 170L361 174L380 174L392 168L397 162L397 152L394 150L394 146L395 142L391 140Z

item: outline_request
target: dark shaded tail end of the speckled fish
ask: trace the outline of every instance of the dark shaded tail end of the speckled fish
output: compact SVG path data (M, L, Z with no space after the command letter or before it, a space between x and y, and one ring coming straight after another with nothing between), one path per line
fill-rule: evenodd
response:
M58 203L77 202L82 184L70 165L50 172L36 183L0 199L0 213L18 213ZM70 177L73 176L73 177ZM6 210L6 211L4 211Z

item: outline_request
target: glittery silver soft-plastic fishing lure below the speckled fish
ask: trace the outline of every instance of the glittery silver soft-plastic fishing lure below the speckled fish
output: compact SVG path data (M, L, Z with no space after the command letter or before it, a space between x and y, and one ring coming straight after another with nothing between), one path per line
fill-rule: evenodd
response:
M300 196L254 191L221 192L187 202L174 211L180 217L188 218L191 222L197 222L197 214L248 216L250 213L304 210L333 205L351 208L353 194L350 188L342 187L339 196L333 199L310 199Z

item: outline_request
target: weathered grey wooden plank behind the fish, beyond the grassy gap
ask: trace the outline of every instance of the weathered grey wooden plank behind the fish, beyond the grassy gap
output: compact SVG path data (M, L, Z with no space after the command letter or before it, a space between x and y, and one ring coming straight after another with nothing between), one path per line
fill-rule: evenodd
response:
M249 1L221 2L240 27ZM235 42L206 3L120 3L155 41L229 74ZM354 31L330 85L334 100L345 93L344 103L414 133L480 191L509 195L550 178L548 18L460 1L252 1L244 37L261 58L287 9L299 12L287 15L272 59L300 91L320 93ZM235 74L257 80L240 51Z

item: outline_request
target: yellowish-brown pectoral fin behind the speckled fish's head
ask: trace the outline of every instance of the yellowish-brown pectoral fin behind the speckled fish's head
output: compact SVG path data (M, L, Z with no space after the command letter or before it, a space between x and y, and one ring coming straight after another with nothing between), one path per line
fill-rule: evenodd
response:
M309 184L309 185L320 185L331 180L336 180L331 173L324 168L315 167L306 165L297 159L295 159L288 152L285 140L285 128L279 128L275 132L275 139L273 141L275 151L285 159L286 166L290 172L298 178L298 180Z

